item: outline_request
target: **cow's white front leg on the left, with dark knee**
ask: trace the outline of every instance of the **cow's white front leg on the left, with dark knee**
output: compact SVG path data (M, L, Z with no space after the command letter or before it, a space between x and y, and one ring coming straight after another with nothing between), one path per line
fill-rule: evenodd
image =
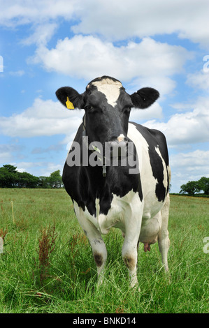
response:
M106 244L103 242L99 230L97 230L93 223L86 218L84 212L80 207L78 207L76 202L74 202L74 209L78 222L80 223L82 230L85 232L87 238L89 239L89 243L92 246L92 253L94 255L94 260L97 267L98 285L101 285L103 282L103 271L107 260Z

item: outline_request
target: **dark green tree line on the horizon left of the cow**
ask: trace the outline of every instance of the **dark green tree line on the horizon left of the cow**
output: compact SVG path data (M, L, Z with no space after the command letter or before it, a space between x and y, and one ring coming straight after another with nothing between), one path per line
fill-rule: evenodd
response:
M18 172L13 165L0 167L0 188L61 188L60 170L52 172L50 177L35 177L27 172Z

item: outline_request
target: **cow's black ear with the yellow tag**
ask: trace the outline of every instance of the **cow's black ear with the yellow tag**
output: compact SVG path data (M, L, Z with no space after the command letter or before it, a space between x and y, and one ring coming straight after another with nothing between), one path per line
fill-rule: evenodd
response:
M69 110L78 108L79 110L84 107L84 94L78 94L78 91L71 87L62 87L56 91L56 96L60 103Z

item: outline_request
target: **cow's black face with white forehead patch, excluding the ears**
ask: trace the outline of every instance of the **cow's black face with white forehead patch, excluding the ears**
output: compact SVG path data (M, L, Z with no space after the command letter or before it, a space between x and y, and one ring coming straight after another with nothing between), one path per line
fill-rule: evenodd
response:
M129 114L133 103L119 81L97 80L87 85L85 116L89 140L127 141Z

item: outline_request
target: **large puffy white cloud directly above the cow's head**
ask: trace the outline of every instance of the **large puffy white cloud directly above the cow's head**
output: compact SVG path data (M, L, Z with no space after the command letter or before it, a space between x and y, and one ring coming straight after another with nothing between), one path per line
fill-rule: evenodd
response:
M171 75L181 73L192 54L185 48L143 38L140 43L115 47L94 36L74 36L58 40L55 48L38 47L29 61L42 64L46 70L92 80L110 75L122 81L138 78L140 82L152 79L161 87L160 93L175 87ZM154 80L154 77L155 80Z

